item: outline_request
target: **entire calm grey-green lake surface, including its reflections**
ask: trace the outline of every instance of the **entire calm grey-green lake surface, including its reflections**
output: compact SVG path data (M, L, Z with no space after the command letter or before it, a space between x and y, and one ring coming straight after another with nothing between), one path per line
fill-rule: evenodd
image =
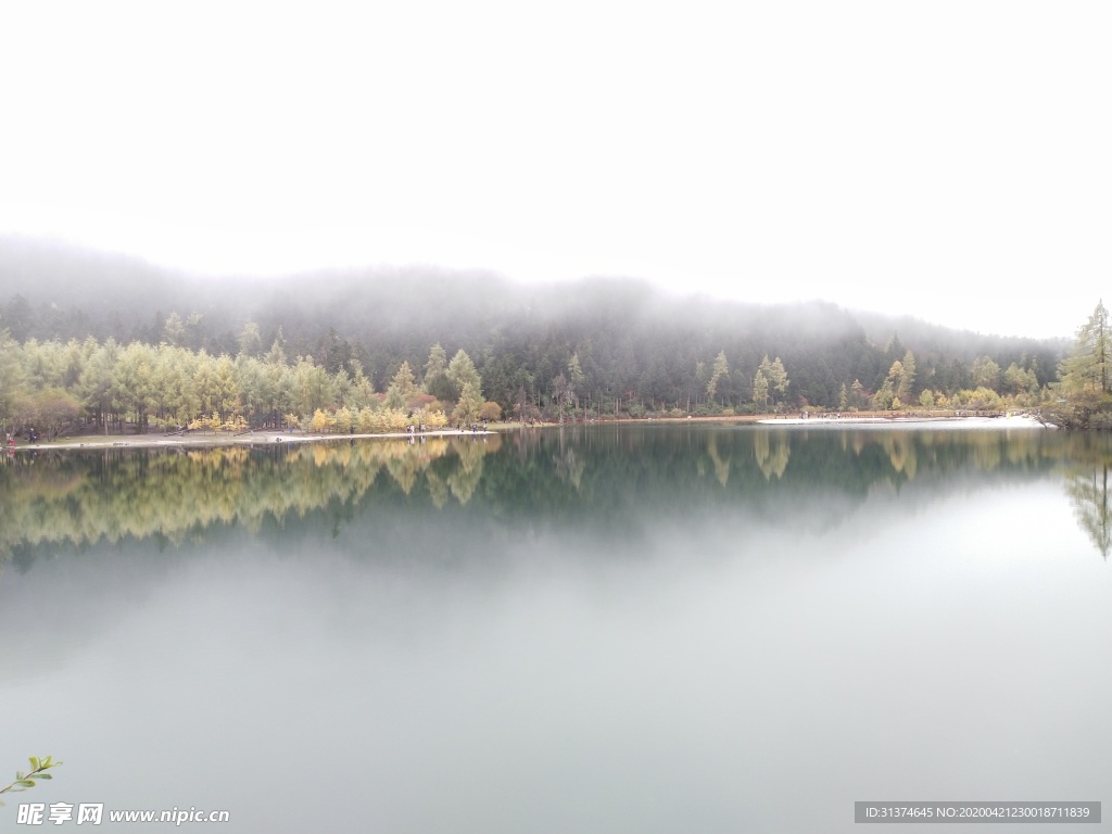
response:
M0 774L64 765L0 827L39 802L136 832L167 826L108 811L848 832L855 801L1108 801L1110 466L1106 437L936 427L21 453Z

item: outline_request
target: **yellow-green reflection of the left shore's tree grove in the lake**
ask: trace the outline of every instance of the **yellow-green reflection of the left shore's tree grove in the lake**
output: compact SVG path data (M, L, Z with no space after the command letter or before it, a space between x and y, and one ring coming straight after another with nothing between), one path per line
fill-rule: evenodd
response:
M4 523L0 557L13 548L68 543L86 546L125 537L158 536L180 546L214 525L257 530L285 524L330 504L351 505L385 471L404 495L435 461L446 467L429 481L441 500L466 503L483 473L486 443L433 438L284 447L225 447L150 451L113 449L52 454L9 461L0 478ZM447 490L441 485L447 485Z

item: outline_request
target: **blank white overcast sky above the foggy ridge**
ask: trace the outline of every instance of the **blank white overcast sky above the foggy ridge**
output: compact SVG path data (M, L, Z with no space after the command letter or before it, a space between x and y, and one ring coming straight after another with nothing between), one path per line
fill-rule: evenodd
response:
M1112 274L1106 0L0 11L0 234L1031 336L1071 335Z

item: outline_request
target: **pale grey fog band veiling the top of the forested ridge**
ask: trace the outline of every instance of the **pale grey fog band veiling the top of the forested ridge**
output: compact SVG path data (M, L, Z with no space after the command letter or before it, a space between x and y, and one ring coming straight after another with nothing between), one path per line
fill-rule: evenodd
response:
M1001 350L1062 350L1065 339L1001 338L954 330L925 321L911 309L901 316L848 310L836 304L726 302L681 288L662 289L636 277L583 278L530 284L484 270L453 270L434 265L287 271L285 275L225 276L220 280L172 269L133 256L27 236L0 236L0 326L19 337L2 305L14 296L46 307L54 318L81 314L80 325L40 327L43 338L109 335L117 340L145 338L156 315L185 317L199 311L212 332L238 332L245 321L287 335L314 337L332 327L342 336L366 338L386 331L398 339L420 335L429 342L480 340L509 321L538 326L597 320L617 314L622 327L679 322L734 329L791 329L817 339L864 331L883 344L893 332L919 348L963 360ZM1082 321L1091 305L1078 311ZM46 316L43 316L46 318ZM158 324L161 327L161 322ZM30 334L29 334L30 335ZM151 334L156 340L161 336ZM1063 334L1064 335L1064 334Z

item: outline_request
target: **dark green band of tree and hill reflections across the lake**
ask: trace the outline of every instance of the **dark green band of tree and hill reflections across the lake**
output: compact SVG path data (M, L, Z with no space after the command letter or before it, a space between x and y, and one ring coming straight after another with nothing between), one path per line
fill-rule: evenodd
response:
M112 449L16 456L0 467L0 564L37 548L125 538L201 543L216 530L328 525L376 509L475 504L504 530L625 535L636 518L841 524L878 486L946 494L956 480L1065 473L1076 517L1106 558L1112 439L1043 430L575 427L425 443ZM473 514L474 515L474 514ZM380 519L379 519L380 523Z

